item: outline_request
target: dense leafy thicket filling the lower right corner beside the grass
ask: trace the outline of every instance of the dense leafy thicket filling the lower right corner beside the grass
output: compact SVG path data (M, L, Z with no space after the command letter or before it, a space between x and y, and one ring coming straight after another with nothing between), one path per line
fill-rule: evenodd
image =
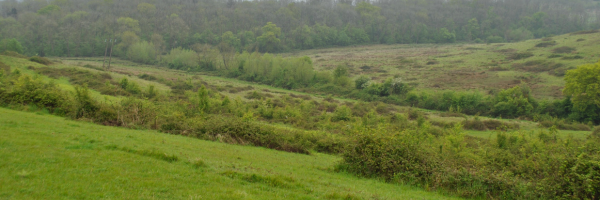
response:
M551 128L497 132L495 138L482 140L460 131L434 136L428 128L354 130L354 142L337 169L462 197L600 197L598 138L561 138Z

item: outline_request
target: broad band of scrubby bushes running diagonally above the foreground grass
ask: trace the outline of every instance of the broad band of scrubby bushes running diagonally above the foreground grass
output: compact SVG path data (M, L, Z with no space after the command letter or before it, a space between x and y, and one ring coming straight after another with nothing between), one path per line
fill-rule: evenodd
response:
M127 78L113 80L106 73L28 68L50 77L69 77L75 89L66 91L39 74L4 64L0 68L3 107L288 152L340 154L343 160L337 171L462 197L597 199L600 195L600 129L583 140L563 138L555 127L535 132L499 128L494 138L485 140L462 132L470 122L437 126L422 112L398 112L386 104L273 97L256 90L247 93L253 100L241 101L201 80L140 75L177 91L161 93ZM123 97L98 101L87 86Z

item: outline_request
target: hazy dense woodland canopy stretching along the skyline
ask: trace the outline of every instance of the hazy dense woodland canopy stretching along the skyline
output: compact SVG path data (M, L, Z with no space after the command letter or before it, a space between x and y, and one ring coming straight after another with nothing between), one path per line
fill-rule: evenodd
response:
M114 38L125 56L134 44L164 55L196 44L282 52L515 42L596 29L599 19L597 0L5 0L0 48L18 50L16 40L29 55L99 56Z

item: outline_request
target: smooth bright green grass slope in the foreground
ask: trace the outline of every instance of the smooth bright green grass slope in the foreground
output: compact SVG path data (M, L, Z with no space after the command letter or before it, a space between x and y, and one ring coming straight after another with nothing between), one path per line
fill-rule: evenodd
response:
M0 199L454 199L332 171L340 158L0 108Z

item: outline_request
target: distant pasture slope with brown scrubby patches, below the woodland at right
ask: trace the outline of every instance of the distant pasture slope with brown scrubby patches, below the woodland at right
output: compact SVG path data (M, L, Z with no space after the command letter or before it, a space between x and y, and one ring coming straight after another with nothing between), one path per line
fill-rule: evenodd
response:
M536 97L554 99L562 96L566 70L600 59L599 45L600 32L588 31L506 44L373 45L284 56L309 56L318 70L348 64L353 75L375 81L398 76L419 90L489 93L525 83Z

